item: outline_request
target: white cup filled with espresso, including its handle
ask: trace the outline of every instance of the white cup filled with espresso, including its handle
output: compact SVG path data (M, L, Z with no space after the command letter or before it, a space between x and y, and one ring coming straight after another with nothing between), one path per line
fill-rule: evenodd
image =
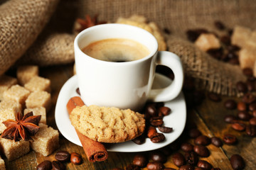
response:
M134 26L107 23L83 30L74 42L75 67L87 106L139 111L146 101L171 101L181 92L183 68L172 52L158 52L156 38ZM156 65L169 67L174 81L151 89Z

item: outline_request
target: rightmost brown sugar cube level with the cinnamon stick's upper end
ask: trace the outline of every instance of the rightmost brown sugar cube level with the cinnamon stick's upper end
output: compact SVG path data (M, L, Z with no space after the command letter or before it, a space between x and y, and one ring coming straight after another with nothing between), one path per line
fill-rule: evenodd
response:
M50 110L50 94L46 91L34 91L26 99L26 108L44 107Z

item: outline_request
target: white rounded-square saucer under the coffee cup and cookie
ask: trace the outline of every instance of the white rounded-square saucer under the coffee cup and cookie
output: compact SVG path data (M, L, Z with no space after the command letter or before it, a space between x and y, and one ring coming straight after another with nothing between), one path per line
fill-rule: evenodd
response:
M78 135L75 132L75 128L70 123L68 111L66 108L66 104L68 100L73 96L79 96L76 93L76 89L78 88L77 76L73 76L68 81L65 82L62 89L60 90L60 94L58 96L58 100L55 107L55 121L58 126L58 130L62 133L62 135L73 142L76 145L82 146ZM161 74L156 74L154 80L154 89L162 88L164 86L168 86L171 84L171 80L167 77L162 76ZM154 149L159 149L161 147L165 147L169 145L171 142L174 142L181 132L183 131L186 123L186 103L184 100L183 94L179 94L177 98L172 101L168 101L164 103L165 106L171 108L171 114L164 117L164 125L167 127L171 127L174 129L173 132L164 133L166 140L160 143L153 143L146 138L146 142L142 145L137 145L132 141L118 143L118 144L107 144L107 151L110 152L144 152ZM157 128L156 128L157 129Z

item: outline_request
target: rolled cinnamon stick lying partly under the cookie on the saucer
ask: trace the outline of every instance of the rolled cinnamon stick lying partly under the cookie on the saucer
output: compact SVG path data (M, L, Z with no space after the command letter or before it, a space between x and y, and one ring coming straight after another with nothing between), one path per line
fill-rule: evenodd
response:
M75 96L73 98L70 98L67 104L68 113L70 114L71 111L76 106L84 106L85 103L83 103L82 99L78 96ZM87 159L90 162L102 162L105 161L108 157L107 155L107 149L105 148L102 143L97 142L95 140L91 140L90 138L86 137L85 135L82 135L78 130L75 129L75 131L78 134L79 140L82 144L82 148L85 151L85 154L87 156Z

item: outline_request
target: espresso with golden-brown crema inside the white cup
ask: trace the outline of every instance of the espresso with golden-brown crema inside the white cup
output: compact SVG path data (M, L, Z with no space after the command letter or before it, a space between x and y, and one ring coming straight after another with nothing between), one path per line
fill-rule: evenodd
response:
M149 49L141 43L123 38L111 38L92 42L82 49L86 55L107 62L131 62L149 55Z

